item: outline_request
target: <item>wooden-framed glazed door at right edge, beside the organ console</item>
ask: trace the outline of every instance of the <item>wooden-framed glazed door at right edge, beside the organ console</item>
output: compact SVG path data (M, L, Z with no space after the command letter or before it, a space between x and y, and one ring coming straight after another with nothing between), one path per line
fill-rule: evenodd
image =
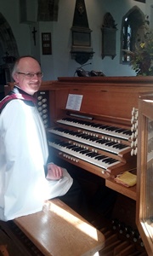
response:
M153 95L139 99L139 151L136 223L149 256L153 255L152 227L152 122Z

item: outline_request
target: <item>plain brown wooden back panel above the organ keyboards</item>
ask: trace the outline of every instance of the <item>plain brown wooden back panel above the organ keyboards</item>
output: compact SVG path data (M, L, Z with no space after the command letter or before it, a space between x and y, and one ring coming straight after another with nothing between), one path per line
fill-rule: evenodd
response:
M129 125L133 107L138 108L139 95L153 91L152 84L151 77L59 78L51 84L42 82L41 90L56 91L57 119L61 118L61 109L65 109L67 97L72 93L83 96L78 113L99 116L99 119L109 117L112 122L120 119Z

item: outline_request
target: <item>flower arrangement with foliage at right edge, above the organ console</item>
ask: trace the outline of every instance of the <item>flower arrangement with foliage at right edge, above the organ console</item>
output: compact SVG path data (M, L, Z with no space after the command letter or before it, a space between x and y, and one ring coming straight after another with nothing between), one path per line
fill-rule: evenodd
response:
M153 76L153 31L149 28L149 21L144 22L143 38L138 39L134 51L125 51L137 76Z

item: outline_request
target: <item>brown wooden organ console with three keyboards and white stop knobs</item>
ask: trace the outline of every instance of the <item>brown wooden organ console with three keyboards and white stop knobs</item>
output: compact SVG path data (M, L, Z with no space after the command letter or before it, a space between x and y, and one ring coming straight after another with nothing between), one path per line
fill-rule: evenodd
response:
M9 85L6 90L13 86ZM137 172L139 96L152 91L152 77L59 78L42 82L36 95L37 108L56 163L62 160L93 173L105 180L106 187L137 203L136 186L126 188L114 178L121 172ZM107 255L102 252L100 255Z

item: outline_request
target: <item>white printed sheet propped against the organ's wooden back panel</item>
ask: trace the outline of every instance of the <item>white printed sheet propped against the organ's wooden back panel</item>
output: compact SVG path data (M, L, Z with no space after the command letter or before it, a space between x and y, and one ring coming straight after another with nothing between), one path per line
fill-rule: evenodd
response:
M67 103L66 103L66 109L71 110L80 110L82 105L82 95L77 94L69 94Z

